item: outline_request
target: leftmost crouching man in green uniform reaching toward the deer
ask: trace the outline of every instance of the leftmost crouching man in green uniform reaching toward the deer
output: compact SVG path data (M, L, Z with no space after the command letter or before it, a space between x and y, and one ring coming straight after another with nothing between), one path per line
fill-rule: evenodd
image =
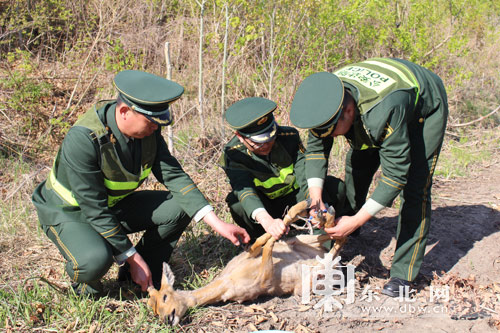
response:
M246 231L220 220L161 135L169 104L184 88L162 77L126 70L114 78L116 101L99 103L68 131L52 171L33 194L42 229L66 259L82 294L102 292L114 260L146 291L161 281L177 240L194 218L235 245ZM168 191L136 191L152 172ZM134 247L127 234L145 233ZM158 286L157 286L158 287Z

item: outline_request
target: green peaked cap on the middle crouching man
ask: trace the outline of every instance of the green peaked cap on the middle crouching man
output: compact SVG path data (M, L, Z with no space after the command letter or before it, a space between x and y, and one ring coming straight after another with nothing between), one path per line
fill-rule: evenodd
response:
M276 103L267 98L248 97L227 108L224 117L232 129L251 137L272 130L275 123L270 113L276 108Z

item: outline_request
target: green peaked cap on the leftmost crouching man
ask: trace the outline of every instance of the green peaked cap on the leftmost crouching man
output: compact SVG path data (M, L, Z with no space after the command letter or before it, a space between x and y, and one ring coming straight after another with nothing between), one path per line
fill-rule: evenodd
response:
M172 122L169 105L184 93L184 88L176 82L136 70L119 72L113 84L128 106L158 125Z

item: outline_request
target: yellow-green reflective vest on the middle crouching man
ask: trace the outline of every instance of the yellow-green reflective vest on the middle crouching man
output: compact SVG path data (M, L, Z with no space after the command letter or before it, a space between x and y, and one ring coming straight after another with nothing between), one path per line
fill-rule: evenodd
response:
M283 197L299 188L293 174L293 164L281 169L278 177L270 177L265 181L254 178L253 183L269 199Z

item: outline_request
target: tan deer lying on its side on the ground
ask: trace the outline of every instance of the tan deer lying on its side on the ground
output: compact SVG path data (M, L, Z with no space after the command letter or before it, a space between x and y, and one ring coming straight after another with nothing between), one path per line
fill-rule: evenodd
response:
M310 201L301 201L291 207L283 218L289 226L304 218L310 208ZM326 214L318 214L320 227L335 224L335 211L330 207ZM287 240L276 241L265 233L240 253L206 286L196 290L175 290L175 276L167 263L163 263L160 290L148 289L148 305L155 315L169 325L175 326L191 307L218 302L254 300L261 295L301 295L302 264L317 265L316 256L322 257L328 251L323 243L328 235L298 235ZM330 250L335 258L346 238L337 239Z

